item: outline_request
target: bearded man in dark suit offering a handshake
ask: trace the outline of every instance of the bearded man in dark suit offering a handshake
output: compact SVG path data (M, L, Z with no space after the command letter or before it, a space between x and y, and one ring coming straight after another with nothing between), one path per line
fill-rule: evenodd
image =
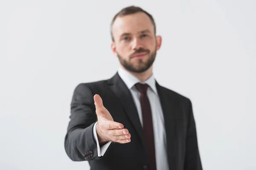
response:
M142 8L123 8L111 23L118 72L79 84L65 150L91 170L202 170L190 100L160 86L152 65L161 37Z

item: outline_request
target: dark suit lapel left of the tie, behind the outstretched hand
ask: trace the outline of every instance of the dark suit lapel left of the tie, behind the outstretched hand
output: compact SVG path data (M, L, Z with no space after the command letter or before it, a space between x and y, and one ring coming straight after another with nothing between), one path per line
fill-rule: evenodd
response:
M138 111L134 104L130 90L127 88L121 77L119 77L118 73L116 73L115 76L109 80L108 84L113 93L116 94L119 101L121 102L122 108L124 109L131 123L134 125L138 135L140 136L143 146L145 147L146 145L145 139L143 137L143 128L141 126Z

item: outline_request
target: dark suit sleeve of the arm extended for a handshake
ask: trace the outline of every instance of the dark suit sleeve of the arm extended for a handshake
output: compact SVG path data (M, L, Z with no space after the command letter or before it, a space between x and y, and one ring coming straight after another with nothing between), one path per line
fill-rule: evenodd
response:
M93 93L86 84L79 84L71 102L70 122L64 147L73 161L100 159L93 137L93 125L97 121Z

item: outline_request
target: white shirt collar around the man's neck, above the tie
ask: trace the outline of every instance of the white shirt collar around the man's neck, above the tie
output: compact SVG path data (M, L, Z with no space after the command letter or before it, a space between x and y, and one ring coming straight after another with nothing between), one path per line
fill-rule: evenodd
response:
M141 82L139 79L137 79L137 77L135 77L134 75L132 75L122 67L120 67L117 72L121 77L121 79L125 82L125 85L129 89L131 89L136 83L140 82L142 84L148 84L148 86L154 91L154 93L157 94L157 87L156 87L154 75L149 77L146 81Z

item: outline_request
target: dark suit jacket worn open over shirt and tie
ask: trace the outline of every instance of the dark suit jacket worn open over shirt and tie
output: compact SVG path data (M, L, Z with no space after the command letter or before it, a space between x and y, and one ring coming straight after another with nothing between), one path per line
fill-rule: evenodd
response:
M202 170L190 100L156 82L162 105L169 170ZM97 121L93 96L99 94L115 122L131 133L131 142L112 142L98 157L93 125ZM65 150L73 161L88 161L91 170L146 170L148 156L143 129L131 92L118 73L111 79L79 84L71 102Z

